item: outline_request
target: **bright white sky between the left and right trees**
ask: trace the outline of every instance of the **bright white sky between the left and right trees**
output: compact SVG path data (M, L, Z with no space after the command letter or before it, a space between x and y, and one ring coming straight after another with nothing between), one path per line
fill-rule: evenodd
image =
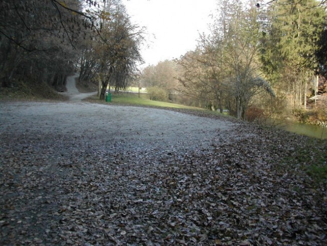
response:
M122 0L132 22L145 26L148 47L141 50L145 64L157 65L179 58L197 45L199 33L208 32L215 0Z

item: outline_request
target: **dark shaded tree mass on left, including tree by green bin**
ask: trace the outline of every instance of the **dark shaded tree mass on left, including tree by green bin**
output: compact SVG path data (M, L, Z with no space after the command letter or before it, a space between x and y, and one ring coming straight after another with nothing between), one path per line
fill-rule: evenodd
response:
M142 61L142 30L130 23L120 0L25 0L0 3L0 79L63 85L68 73L126 86ZM20 81L20 82L19 82ZM102 94L104 95L104 90Z

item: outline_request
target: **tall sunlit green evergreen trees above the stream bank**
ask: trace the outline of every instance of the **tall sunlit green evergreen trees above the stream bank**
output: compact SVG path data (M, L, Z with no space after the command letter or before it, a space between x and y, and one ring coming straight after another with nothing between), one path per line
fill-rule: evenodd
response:
M288 93L293 107L306 104L308 82L318 69L315 54L325 17L318 5L314 0L281 0L269 7L271 24L261 61L264 71L278 78L275 88Z

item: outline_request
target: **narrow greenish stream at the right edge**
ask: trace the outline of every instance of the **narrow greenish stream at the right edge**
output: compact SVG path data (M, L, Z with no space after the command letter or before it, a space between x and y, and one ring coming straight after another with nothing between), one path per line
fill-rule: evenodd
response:
M327 126L321 127L294 121L284 121L282 124L278 125L278 128L300 135L306 135L319 139L327 139Z

